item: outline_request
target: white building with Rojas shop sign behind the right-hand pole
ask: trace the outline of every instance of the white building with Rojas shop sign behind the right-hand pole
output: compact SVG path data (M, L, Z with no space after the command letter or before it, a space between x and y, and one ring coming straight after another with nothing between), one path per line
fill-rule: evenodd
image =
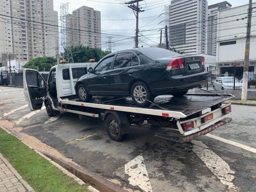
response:
M253 3L256 7L256 3ZM247 22L248 4L231 9L219 11L218 33L217 33L217 75L232 73L236 66L238 78L242 78L244 66L244 51L246 39L246 22ZM238 15L239 14L239 15ZM232 16L233 15L233 16ZM237 16L236 16L237 15ZM232 16L232 17L227 17ZM223 18L226 17L226 18ZM241 19L245 18L245 19ZM240 20L236 20L240 19ZM234 21L232 21L234 20ZM252 23L256 18L252 17ZM256 79L256 25L251 26L251 43L250 43L250 61L249 61L249 78Z

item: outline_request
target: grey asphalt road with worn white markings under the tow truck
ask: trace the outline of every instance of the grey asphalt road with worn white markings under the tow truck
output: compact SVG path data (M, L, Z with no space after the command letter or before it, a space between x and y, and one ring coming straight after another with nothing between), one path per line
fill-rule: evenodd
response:
M114 142L101 119L88 117L82 121L78 115L63 113L49 120L45 109L37 113L28 110L23 89L0 87L0 98L0 125L4 120L15 122L14 128L22 127L23 133L80 166L124 181L131 189L256 191L256 107L232 105L233 120L211 132L215 138L201 136L179 144L155 137L162 128L146 125L132 127L125 141ZM219 138L235 143L227 144ZM251 148L245 150L239 144Z

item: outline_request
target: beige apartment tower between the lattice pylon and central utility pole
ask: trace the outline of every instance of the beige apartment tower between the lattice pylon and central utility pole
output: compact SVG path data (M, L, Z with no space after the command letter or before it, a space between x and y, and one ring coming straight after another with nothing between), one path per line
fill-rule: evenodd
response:
M82 6L69 16L69 27L67 41L70 46L85 45L101 48L101 22L100 11ZM83 31L82 31L83 30Z

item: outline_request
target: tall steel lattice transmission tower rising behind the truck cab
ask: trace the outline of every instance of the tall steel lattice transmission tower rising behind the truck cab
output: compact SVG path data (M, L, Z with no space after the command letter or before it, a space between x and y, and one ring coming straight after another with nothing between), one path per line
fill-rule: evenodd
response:
M60 32L61 32L61 44L60 53L62 53L62 59L67 63L74 63L70 46L68 46L69 38L67 38L67 31L69 30L69 5L68 3L60 4Z

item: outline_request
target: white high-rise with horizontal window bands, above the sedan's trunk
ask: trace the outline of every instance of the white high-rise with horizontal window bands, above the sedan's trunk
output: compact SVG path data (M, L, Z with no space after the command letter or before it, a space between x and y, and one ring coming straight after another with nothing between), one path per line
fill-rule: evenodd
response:
M169 46L185 54L205 53L206 0L172 0L169 5Z

